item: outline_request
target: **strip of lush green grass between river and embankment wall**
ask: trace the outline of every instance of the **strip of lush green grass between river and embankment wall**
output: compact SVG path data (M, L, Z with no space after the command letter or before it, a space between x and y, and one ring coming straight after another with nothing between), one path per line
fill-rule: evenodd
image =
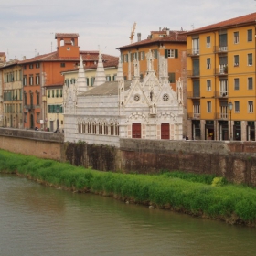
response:
M0 172L27 176L52 187L256 226L256 189L230 185L214 176L101 172L3 150L0 150Z

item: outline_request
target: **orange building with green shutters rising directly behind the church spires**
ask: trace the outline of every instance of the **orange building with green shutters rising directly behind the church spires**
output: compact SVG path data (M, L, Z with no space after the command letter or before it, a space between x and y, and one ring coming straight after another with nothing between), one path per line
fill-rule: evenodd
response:
M151 50L154 56L153 69L155 75L160 78L159 57L164 56L168 64L168 81L176 91L176 81L183 82L184 95L184 117L183 132L187 135L187 56L186 56L186 35L184 31L172 31L169 28L159 28L159 31L151 31L150 35L142 40L141 34L137 34L137 42L118 48L123 61L124 80L132 80L134 75L133 62L139 61L140 79L147 75L147 60L145 54Z

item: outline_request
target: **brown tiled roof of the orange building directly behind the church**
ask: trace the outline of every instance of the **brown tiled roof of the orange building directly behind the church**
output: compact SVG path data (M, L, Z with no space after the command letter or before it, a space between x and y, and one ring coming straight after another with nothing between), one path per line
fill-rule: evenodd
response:
M162 34L163 32L160 31ZM133 48L133 47L138 47L138 46L144 46L144 45L150 45L150 44L155 44L158 42L166 42L166 43L186 43L187 42L187 36L184 34L184 31L169 31L169 36L165 37L155 37L155 38L147 38L144 40L141 40L139 42L126 45L117 49L123 49L123 48Z

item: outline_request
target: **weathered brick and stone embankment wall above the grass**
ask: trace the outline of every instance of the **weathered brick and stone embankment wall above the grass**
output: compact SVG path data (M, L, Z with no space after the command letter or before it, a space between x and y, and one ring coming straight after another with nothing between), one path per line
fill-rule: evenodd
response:
M64 143L63 133L0 129L0 148L25 155L69 161L101 171L153 174L183 170L224 176L256 186L256 142L150 141L121 139L109 145Z

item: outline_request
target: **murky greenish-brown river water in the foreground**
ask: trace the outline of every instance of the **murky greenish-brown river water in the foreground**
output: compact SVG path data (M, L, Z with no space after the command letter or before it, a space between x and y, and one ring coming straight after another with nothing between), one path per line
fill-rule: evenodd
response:
M256 229L0 174L0 255L256 255Z

